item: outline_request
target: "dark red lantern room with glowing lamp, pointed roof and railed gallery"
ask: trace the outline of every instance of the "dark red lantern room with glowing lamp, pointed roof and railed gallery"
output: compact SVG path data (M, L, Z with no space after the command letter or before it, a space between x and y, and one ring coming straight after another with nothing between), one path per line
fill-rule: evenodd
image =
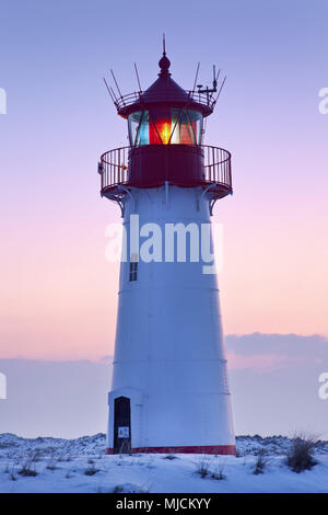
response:
M118 114L128 121L130 147L102 156L102 194L113 197L119 185L165 183L207 187L215 198L232 193L230 152L202 145L203 118L215 101L178 85L165 52L159 66L159 78L144 92L115 99Z

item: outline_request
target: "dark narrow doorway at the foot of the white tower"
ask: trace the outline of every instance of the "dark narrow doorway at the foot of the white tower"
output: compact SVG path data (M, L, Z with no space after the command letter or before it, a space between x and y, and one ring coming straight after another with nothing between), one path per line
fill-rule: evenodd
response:
M118 397L114 401L114 453L131 451L131 407L130 399Z

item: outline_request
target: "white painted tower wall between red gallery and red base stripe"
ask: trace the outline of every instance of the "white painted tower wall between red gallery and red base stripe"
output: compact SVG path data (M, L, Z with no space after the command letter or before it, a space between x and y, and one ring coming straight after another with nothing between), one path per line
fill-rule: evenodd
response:
M210 222L201 192L133 188L128 234L131 214L163 233L165 222ZM132 447L234 445L216 276L203 274L203 264L139 262L130 283L129 262L121 263L108 447L114 398L127 391Z

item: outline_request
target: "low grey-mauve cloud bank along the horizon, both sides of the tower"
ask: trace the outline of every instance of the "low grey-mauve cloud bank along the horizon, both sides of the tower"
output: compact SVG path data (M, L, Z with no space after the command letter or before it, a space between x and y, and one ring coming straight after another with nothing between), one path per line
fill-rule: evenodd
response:
M236 435L296 433L328 439L327 339L297 334L226 337ZM104 433L112 357L102 360L1 359L7 399L0 433L75 438ZM325 387L328 392L328 381Z

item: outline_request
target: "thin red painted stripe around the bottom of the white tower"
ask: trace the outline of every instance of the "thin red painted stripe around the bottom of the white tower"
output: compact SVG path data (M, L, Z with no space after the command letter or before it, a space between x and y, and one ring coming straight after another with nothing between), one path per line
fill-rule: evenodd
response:
M194 445L181 447L134 447L131 449L133 453L145 454L207 454L207 455L233 455L236 454L235 445ZM113 448L107 447L106 455L118 454Z

